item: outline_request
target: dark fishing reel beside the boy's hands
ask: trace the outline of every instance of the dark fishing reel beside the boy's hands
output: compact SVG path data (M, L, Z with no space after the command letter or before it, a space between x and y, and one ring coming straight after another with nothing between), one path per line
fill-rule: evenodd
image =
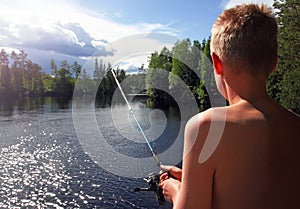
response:
M165 197L162 193L162 188L159 187L160 175L156 173L150 173L144 180L148 183L148 188L135 188L135 192L140 191L153 191L156 196L158 205L163 205Z

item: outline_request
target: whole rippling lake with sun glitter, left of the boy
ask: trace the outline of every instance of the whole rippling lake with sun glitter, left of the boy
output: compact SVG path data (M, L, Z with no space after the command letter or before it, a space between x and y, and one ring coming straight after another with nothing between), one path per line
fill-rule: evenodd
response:
M96 146L86 114L74 119L72 100L0 101L0 208L171 208L168 203L158 207L153 192L133 192L147 187L141 176L149 168L159 170L127 107L97 102L90 107L106 144L132 161L121 164L122 159L106 156L105 147ZM182 137L179 114L153 110L138 101L133 110L161 160L174 163L169 160L174 151L166 150ZM80 122L85 128L78 132L74 124ZM83 133L86 137L80 139ZM176 152L180 157L181 150ZM139 164L145 159L152 165Z

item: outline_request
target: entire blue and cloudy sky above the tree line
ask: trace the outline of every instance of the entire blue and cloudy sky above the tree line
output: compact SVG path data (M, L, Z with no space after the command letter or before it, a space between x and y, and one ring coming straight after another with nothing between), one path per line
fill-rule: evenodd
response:
M202 41L225 8L249 2L272 5L273 0L1 0L0 49L24 50L44 71L52 58L58 65L62 60L84 65L93 56L118 53L112 60L121 68L147 66L143 51L183 38ZM149 33L162 34L155 36L161 40L154 44L152 36L149 41L141 35Z

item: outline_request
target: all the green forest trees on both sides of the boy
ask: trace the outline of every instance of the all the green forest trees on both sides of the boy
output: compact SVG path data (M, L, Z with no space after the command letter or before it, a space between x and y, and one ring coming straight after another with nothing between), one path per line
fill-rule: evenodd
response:
M300 113L300 69L299 69L299 3L296 0L281 2L275 0L274 7L279 25L278 34L278 65L268 82L268 93L284 107ZM179 92L182 97L187 93L178 88L178 79L182 80L193 97L196 98L200 110L210 107L207 89L215 89L213 71L211 69L210 38L202 42L186 38L175 43L172 49L164 47L160 52L150 56L148 69L138 74L126 75L122 69L116 69L119 81L126 81L128 93L136 89L146 89L149 100L155 106L168 107L175 105L174 99L168 94ZM78 62L72 64L61 61L49 61L51 73L47 74L36 63L27 58L24 51L8 54L0 52L0 98L24 96L68 96L71 98L78 79L81 86L77 90L88 94L92 88L98 88L97 95L112 96L116 84L110 72L111 65L103 64L95 58L93 75ZM161 77L158 70L168 72ZM126 78L126 79L125 79ZM99 86L98 82L101 80ZM168 92L155 89L158 82L167 84ZM213 94L218 94L217 91Z

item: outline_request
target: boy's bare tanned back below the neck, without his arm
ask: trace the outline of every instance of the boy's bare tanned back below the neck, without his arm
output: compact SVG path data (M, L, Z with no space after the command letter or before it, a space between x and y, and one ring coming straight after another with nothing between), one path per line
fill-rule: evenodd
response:
M272 101L228 107L212 157L213 208L297 208L299 130L300 118Z

